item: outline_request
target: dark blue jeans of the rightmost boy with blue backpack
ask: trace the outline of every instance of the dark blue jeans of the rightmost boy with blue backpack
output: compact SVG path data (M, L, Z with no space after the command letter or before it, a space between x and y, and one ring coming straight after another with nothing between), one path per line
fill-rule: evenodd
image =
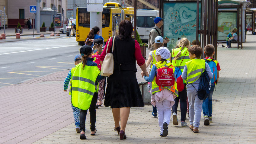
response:
M213 96L214 87L215 87L215 83L212 83L208 98L203 100L203 116L212 117L212 113L213 113L212 96Z

